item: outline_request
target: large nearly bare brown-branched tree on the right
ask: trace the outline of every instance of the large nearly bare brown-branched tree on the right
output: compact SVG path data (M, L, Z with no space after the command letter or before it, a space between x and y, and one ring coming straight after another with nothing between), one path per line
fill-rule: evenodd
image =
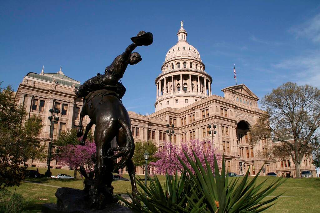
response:
M251 128L252 145L262 139L277 141L267 153L275 158L291 156L296 178L300 163L314 149L320 126L320 91L313 86L285 83L261 99L265 116Z

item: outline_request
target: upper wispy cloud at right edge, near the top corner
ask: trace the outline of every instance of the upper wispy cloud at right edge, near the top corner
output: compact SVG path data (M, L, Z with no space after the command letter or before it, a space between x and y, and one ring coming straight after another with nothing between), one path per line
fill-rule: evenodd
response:
M315 43L320 43L320 13L289 31L296 34L296 38L306 37Z

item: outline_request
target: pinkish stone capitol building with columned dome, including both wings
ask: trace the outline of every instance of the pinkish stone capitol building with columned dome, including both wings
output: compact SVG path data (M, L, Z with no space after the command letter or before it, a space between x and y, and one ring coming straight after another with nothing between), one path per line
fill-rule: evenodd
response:
M288 158L286 163L262 158L259 153L270 148L272 142L260 141L256 146L249 144L250 127L264 113L258 108L259 98L244 84L225 87L224 97L212 95L212 77L205 72L205 65L198 50L187 42L187 31L181 28L178 42L171 47L161 66L161 73L156 77L155 113L144 116L129 111L132 125L132 135L135 142L153 141L159 148L164 141L169 141L166 134L166 124L174 124L174 135L171 141L179 146L191 139L214 141L218 154L224 154L226 167L237 174L245 173L250 166L250 174L254 175L265 164L265 175L268 172L288 173L294 177L294 164ZM16 101L23 103L29 111L29 116L43 118L44 128L39 134L41 143L49 144L50 122L47 119L50 108L60 108L63 115L54 127L54 139L59 132L67 128L76 128L79 122L79 112L82 100L75 95L80 82L57 73L28 73L24 77L16 93ZM86 116L84 125L89 122ZM212 134L209 135L208 125ZM213 130L213 125L216 126ZM213 134L216 131L216 134ZM212 148L211 142L204 142ZM54 152L54 150L53 150ZM311 169L310 160L304 158L301 170ZM28 160L28 164L46 167L46 161ZM52 167L59 167L52 161ZM123 171L126 173L126 171ZM151 171L152 172L152 171ZM143 174L140 167L136 173Z

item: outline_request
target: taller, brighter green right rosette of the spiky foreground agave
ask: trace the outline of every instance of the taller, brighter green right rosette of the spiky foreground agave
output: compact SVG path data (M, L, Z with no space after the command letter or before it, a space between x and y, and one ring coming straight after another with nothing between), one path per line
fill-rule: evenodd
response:
M196 162L194 162L187 153L184 154L195 173L190 171L188 166L185 165L179 157L178 158L184 169L188 172L190 182L194 183L194 185L191 186L193 197L195 198L194 201L198 202L203 200L206 205L203 212L261 212L274 205L275 203L271 202L275 201L281 195L263 200L267 195L274 192L284 180L277 179L266 188L262 188L266 180L256 186L255 182L262 167L251 181L248 181L248 170L242 179L236 178L229 183L228 175L226 175L228 173L225 171L224 156L222 157L222 169L221 174L219 175L216 158L214 159L215 169L213 173L206 159L207 169L204 169L195 153L193 154Z

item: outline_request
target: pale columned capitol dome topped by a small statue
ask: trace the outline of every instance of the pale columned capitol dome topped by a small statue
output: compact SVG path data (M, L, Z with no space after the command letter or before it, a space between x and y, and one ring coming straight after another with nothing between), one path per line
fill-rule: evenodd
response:
M169 49L156 78L156 111L166 107L180 109L211 95L211 76L198 50L187 42L187 31L178 30L178 42Z

